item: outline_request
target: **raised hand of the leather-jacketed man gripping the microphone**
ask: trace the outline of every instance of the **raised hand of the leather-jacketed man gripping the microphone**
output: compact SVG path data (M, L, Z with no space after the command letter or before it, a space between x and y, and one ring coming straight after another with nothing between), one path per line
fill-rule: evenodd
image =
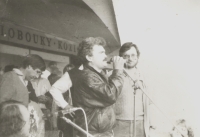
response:
M125 60L120 56L113 57L113 69L124 69Z

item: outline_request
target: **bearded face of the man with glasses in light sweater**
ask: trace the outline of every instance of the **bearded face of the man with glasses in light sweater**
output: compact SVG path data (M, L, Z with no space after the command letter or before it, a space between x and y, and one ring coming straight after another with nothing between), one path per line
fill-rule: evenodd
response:
M125 68L134 68L138 63L138 55L134 47L124 52L122 57L126 60Z

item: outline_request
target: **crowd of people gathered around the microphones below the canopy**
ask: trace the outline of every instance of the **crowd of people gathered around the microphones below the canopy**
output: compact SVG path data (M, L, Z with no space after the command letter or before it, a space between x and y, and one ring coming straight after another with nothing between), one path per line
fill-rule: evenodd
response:
M33 54L18 67L12 66L0 81L0 136L44 137L45 132L58 129L64 137L84 137L55 115L76 107L85 111L94 137L149 137L155 126L150 123L152 103L144 94L146 83L137 68L140 51L132 42L123 44L111 59L113 70L108 71L105 46L103 38L84 39L78 47L80 63L67 65L63 73L55 62L46 67ZM82 111L64 116L86 130Z

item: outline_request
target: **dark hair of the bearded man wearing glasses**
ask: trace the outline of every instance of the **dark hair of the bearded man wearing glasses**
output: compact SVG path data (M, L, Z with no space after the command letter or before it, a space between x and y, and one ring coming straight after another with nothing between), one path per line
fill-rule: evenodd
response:
M139 51L137 45L133 44L132 42L126 42L126 43L124 43L124 44L121 46L121 48L120 48L120 50L119 50L119 56L122 57L123 54L124 54L126 51L130 50L132 47L134 47L134 48L136 49L136 51L137 51L137 56L140 57L140 51Z

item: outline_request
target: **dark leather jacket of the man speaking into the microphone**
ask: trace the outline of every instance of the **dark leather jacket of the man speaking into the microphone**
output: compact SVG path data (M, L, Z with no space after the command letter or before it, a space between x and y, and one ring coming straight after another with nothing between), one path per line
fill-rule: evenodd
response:
M92 67L69 71L72 80L72 100L75 107L85 110L89 132L93 135L110 131L115 124L113 104L121 93L123 71L114 70L107 78ZM85 129L83 112L76 112L76 123Z

